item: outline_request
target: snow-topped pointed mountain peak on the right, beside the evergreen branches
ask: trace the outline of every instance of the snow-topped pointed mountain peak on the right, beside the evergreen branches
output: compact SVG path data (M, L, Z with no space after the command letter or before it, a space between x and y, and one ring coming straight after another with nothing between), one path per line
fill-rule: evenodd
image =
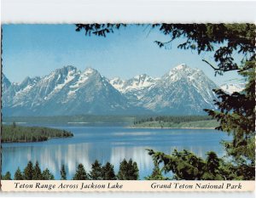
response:
M142 98L142 105L154 112L178 115L203 114L214 109L212 92L218 86L201 70L177 65L160 78Z

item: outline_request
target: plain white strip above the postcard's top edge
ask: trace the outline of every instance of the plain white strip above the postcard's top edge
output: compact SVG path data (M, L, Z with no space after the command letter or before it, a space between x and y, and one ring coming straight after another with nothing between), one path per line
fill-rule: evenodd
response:
M255 1L1 0L2 23L255 22Z

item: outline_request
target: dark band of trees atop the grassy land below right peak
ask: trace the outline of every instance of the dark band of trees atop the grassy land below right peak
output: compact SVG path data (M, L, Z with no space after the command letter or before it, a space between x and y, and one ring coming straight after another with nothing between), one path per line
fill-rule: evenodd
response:
M196 121L209 121L213 120L211 116L150 116L134 121L134 125L143 122L196 122Z

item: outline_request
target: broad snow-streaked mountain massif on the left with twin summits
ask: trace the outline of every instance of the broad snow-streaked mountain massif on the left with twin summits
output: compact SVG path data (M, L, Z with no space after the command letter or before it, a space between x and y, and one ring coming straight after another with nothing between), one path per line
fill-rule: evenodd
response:
M81 72L73 66L65 66L38 79L35 84L28 82L36 81L26 78L18 85L26 87L22 89L28 91L26 94L21 94L21 89L12 94L12 99L8 92L3 94L5 115L115 114L133 110L125 96L92 68ZM15 86L10 90L15 90Z

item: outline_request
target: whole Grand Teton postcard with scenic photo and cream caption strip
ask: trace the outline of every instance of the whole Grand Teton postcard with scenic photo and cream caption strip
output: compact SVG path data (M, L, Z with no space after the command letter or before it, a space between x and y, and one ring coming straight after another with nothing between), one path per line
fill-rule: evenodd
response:
M3 24L2 190L254 190L255 30Z

